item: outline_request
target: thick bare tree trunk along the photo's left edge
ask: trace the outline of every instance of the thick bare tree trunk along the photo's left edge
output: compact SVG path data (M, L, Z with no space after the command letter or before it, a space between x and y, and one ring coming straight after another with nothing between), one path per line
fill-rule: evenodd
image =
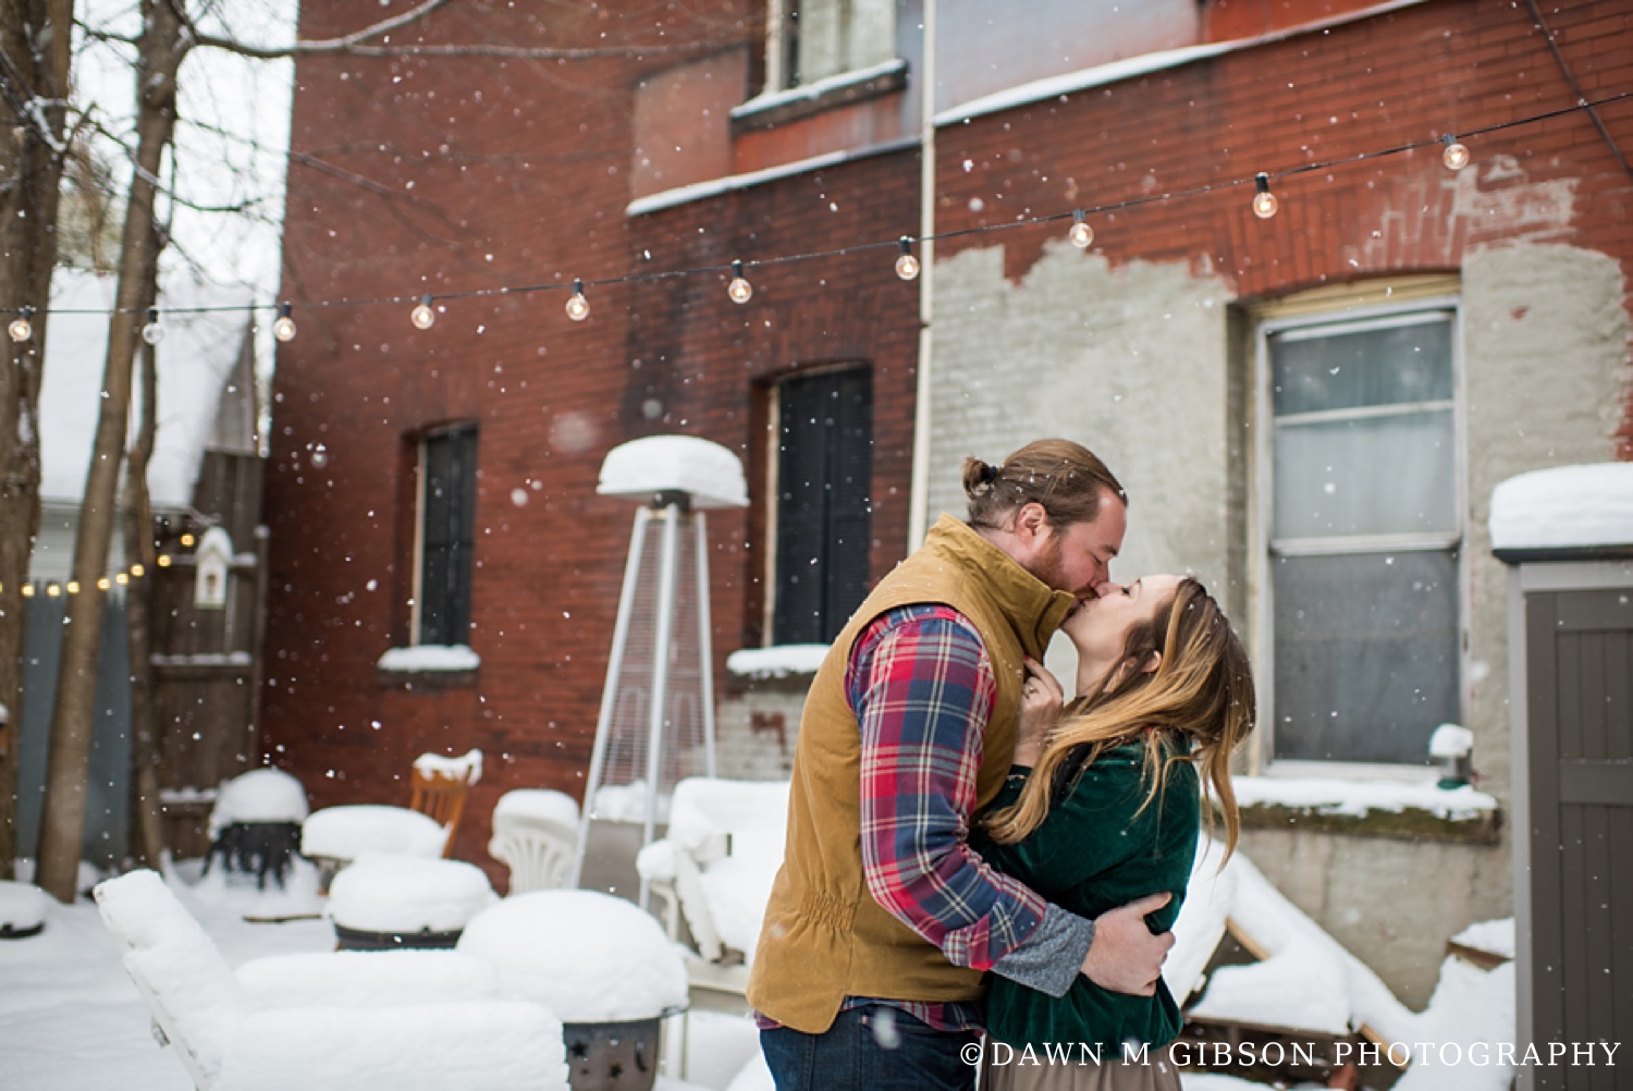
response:
M0 879L16 859L23 735L23 581L39 532L39 381L57 263L57 193L69 136L73 0L0 0L0 322L39 310L34 336L0 338Z

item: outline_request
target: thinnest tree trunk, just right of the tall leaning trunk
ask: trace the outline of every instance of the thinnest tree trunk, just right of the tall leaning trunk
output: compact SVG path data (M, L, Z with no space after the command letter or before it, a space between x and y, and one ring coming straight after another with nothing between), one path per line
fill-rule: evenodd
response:
M154 250L160 243L155 240ZM157 291L157 281L149 283ZM154 346L144 343L137 354L142 376L142 416L124 470L124 555L142 565L142 578L124 593L124 627L131 643L131 856L139 864L158 867L165 851L165 823L158 804L158 715L154 707L154 506L147 492L147 462L154 456L158 430L158 369Z

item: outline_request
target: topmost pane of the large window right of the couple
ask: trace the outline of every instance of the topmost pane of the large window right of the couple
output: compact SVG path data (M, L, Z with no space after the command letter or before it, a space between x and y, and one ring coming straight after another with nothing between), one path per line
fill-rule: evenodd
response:
M1270 336L1277 416L1452 399L1452 318Z

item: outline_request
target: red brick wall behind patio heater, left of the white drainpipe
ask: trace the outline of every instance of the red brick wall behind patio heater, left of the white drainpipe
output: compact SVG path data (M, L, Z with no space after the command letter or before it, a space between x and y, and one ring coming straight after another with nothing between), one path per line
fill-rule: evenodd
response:
M309 36L379 10L331 7L328 26L309 11ZM663 41L758 36L735 18L745 7L758 13L689 5L696 18ZM598 18L552 7L549 28L503 8L461 11L431 26L433 41L656 39L645 8ZM300 335L279 346L274 379L265 740L314 805L405 804L415 755L480 746L487 774L456 851L492 867L500 792L580 794L634 516L629 501L594 495L617 443L707 436L763 474L761 384L867 361L875 572L905 550L918 294L893 276L890 250L751 269L746 307L727 299L725 274L591 287L583 323L562 314L560 291L447 301L425 332L408 322L412 301L299 305L723 266L914 229L913 152L625 217L632 88L674 62L300 62L284 278ZM410 632L413 443L449 421L480 428L470 643L482 668L474 684L405 689L374 665ZM710 514L717 661L758 637L753 518Z

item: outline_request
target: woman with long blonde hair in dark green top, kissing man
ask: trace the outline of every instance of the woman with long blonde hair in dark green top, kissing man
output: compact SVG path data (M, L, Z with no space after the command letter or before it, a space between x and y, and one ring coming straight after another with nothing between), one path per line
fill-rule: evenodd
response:
M1246 650L1207 590L1172 575L1102 585L1061 632L1078 650L1078 697L1061 709L1060 684L1030 666L1016 769L970 844L994 869L1088 918L1168 892L1172 900L1146 916L1153 933L1168 931L1204 815L1212 835L1204 790L1223 817L1226 859L1236 848L1230 759L1254 727ZM994 977L981 1088L1179 1091L1163 1053L1177 1034L1179 1006L1161 980L1135 996L1078 977L1053 998ZM1027 1045L1039 1063L1012 1063ZM1045 1045L1055 1047L1055 1063L1043 1063Z

